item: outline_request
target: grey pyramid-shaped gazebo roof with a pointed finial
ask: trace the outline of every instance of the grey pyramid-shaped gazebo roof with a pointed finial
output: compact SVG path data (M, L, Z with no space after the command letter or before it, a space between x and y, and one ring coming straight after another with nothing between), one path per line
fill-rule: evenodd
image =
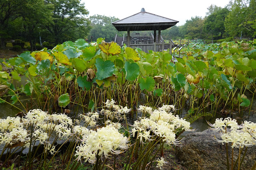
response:
M118 31L147 31L147 30L165 30L178 23L176 20L171 20L162 16L145 12L142 8L141 12L113 22L113 26Z

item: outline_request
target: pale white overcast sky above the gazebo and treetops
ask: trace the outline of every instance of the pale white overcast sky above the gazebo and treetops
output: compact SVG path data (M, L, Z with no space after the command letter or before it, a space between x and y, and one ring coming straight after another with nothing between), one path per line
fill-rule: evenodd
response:
M179 21L177 26L185 24L195 16L206 16L207 8L217 5L224 8L230 0L81 0L89 11L95 14L115 16L123 19L141 11ZM160 3L160 5L158 5Z

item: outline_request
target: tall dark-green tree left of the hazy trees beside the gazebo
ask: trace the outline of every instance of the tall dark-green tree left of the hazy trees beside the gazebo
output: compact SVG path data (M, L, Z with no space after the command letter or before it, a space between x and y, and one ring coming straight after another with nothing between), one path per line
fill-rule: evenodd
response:
M85 38L88 33L89 20L85 18L89 12L80 0L46 0L52 4L52 22L48 22L45 28L52 34L55 44L69 40L70 34L75 30L83 30L80 38Z

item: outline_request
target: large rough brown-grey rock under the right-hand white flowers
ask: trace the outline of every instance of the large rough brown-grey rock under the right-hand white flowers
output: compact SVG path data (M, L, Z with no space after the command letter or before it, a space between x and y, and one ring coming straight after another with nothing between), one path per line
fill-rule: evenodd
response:
M182 166L189 170L225 170L226 144L217 142L214 138L220 139L220 133L207 129L203 132L191 132L184 136L181 146L176 148L176 156ZM231 169L232 149L229 145L229 159ZM245 150L245 148L244 148ZM241 159L244 154L241 154ZM234 162L238 157L239 149L234 148ZM256 161L256 146L248 147L241 170L250 170ZM238 165L235 169L237 169Z

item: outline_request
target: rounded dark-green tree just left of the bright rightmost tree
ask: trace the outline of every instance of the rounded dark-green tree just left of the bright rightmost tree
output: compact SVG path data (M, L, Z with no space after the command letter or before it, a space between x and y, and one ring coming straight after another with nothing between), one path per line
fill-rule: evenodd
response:
M204 22L204 32L210 34L212 38L213 36L220 35L220 38L222 39L225 32L224 22L226 16L228 16L228 13L228 9L223 8L214 12L213 14L210 14Z

